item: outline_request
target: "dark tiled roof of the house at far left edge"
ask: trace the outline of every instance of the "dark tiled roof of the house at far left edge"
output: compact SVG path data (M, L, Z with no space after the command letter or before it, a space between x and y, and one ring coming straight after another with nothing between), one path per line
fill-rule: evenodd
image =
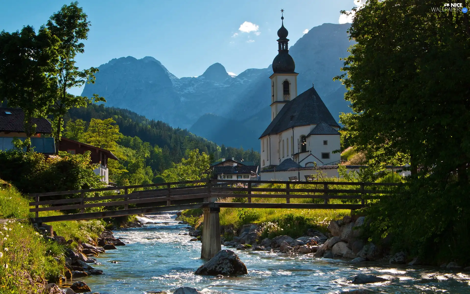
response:
M45 118L31 120L36 134L51 134L51 123ZM0 132L24 133L24 112L21 108L0 107Z

